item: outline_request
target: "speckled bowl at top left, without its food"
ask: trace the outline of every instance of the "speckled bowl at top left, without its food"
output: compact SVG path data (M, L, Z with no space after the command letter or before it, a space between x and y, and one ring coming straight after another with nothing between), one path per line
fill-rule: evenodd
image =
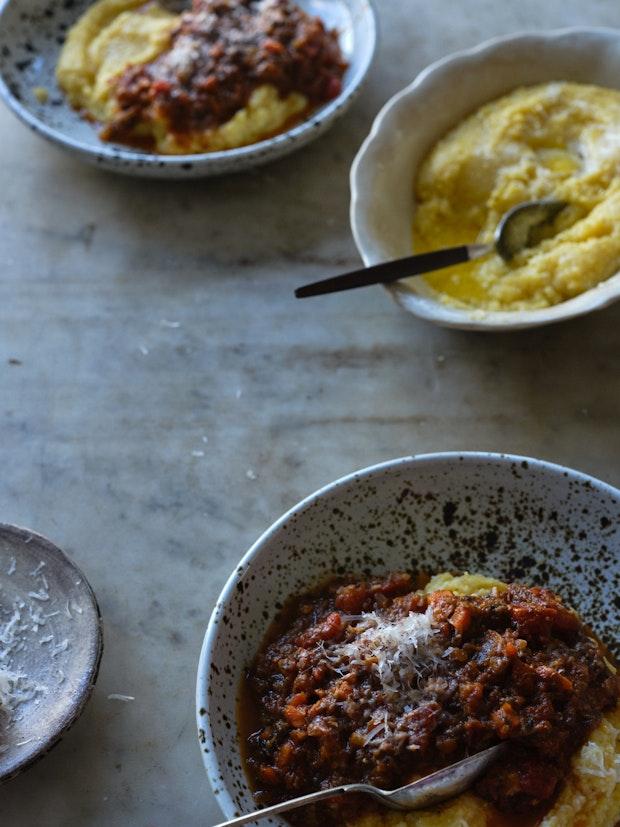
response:
M341 94L307 120L266 141L198 155L158 155L100 141L97 129L66 102L55 79L70 26L94 0L0 0L0 96L34 132L86 161L128 175L201 178L239 172L292 152L317 138L344 114L360 90L376 43L371 0L298 0L340 32L349 63ZM49 90L40 103L33 89Z

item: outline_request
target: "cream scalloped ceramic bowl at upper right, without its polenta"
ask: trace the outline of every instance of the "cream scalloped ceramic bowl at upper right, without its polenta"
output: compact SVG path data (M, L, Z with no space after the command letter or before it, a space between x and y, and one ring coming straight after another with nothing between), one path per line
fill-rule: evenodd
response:
M351 226L367 265L411 255L413 185L432 146L464 117L518 86L570 80L620 88L620 32L564 29L489 40L433 63L383 107L351 168ZM443 304L422 279L388 286L416 316L446 327L517 330L599 310L620 298L620 274L540 310L488 312Z

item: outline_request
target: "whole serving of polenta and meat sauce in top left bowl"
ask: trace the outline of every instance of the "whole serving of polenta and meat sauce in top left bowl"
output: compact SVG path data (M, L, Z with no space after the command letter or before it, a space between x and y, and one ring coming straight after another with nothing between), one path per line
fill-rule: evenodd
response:
M291 0L98 0L70 30L57 79L104 140L189 154L287 128L341 90L335 31Z

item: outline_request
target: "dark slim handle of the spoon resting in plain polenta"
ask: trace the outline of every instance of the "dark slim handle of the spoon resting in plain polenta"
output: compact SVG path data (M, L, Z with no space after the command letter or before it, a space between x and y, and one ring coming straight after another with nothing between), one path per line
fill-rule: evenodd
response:
M363 267L341 276L333 276L323 281L315 281L298 287L295 295L298 299L308 296L320 296L324 293L338 293L341 290L352 290L354 287L368 287L371 284L387 284L408 276L418 276L430 273L432 270L441 270L453 264L462 264L471 261L485 253L491 247L486 244L463 244L460 247L446 247L444 250L434 250L432 253L419 253L416 256L398 258L394 261L384 261L372 267Z

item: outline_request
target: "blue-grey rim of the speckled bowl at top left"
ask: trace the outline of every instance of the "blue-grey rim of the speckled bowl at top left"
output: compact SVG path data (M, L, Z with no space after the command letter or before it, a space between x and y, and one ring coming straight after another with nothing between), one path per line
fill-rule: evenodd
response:
M0 25L9 6L17 2L19 2L19 0L0 0ZM349 0L342 0L342 2L348 5ZM122 162L132 167L165 167L173 169L178 173L195 167L216 169L222 162L226 162L227 166L233 161L239 161L240 164L244 162L247 163L255 157L283 152L287 145L292 145L296 141L302 141L304 138L309 139L318 127L326 127L329 125L340 111L353 101L370 71L377 52L378 15L376 0L364 0L364 2L368 7L367 31L370 36L370 48L364 61L352 75L350 85L343 88L338 97L320 106L309 118L306 118L291 129L287 129L286 132L235 149L218 150L217 152L200 152L188 155L164 155L155 152L141 152L139 150L126 149L119 144L106 144L100 139L100 146L90 146L84 141L73 138L69 133L61 129L47 126L47 124L33 115L30 109L13 95L2 73L0 73L0 100L4 101L7 107L22 123L26 124L26 126L30 127L43 138L61 146L63 149L77 153L98 163ZM68 102L65 101L65 105L69 106Z

